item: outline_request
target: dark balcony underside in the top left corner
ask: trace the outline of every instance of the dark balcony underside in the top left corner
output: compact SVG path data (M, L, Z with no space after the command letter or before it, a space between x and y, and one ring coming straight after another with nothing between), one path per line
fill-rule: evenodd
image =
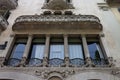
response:
M1 9L15 9L18 5L18 0L0 0L0 10Z

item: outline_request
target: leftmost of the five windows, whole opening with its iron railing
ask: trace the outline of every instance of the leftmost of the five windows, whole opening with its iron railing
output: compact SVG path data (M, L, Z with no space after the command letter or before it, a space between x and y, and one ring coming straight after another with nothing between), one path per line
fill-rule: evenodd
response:
M16 39L12 53L8 60L9 66L18 66L26 46L27 39Z

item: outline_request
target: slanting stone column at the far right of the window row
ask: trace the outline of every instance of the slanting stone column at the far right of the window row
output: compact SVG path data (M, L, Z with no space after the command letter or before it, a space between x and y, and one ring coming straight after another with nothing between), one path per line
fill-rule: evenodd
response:
M107 47L106 41L104 39L104 34L99 35L99 37L100 37L100 45L104 53L105 59L108 60L109 66L114 66L114 60Z

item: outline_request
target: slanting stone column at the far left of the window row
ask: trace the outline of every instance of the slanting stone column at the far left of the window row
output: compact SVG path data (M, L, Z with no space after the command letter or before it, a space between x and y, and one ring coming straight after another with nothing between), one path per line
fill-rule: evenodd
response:
M9 59L9 55L11 54L11 50L12 50L12 47L13 47L14 43L15 43L15 34L11 34L10 35L10 40L8 41L8 44L7 44L7 47L6 47L6 50L3 51L3 55L1 56L0 66L4 66L3 63L5 62L5 59L6 60Z

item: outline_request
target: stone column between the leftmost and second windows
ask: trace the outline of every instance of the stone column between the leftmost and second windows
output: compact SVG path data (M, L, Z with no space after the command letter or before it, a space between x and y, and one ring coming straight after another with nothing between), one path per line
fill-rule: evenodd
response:
M25 51L23 53L23 57L22 57L22 60L21 60L21 63L20 63L20 66L25 66L26 65L26 59L29 55L32 39L33 39L33 36L29 35L28 36L28 41L27 41L27 44L26 44L26 47L25 47Z

